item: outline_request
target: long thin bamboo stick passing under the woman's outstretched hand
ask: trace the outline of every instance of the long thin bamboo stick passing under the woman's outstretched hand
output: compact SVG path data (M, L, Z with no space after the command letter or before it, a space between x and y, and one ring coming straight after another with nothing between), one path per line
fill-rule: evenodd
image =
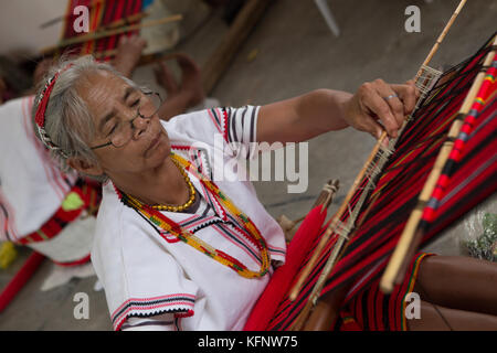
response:
M456 10L454 11L454 13L452 14L451 19L448 20L447 24L445 25L445 28L443 29L442 33L438 35L435 44L433 45L433 47L431 49L429 55L426 56L426 58L424 60L422 66L420 67L420 69L416 73L416 76L414 78L414 81L417 81L421 77L421 74L423 72L423 66L427 66L427 64L430 63L430 61L432 60L433 55L436 53L436 51L438 50L440 44L442 43L442 41L444 40L445 35L447 34L448 30L451 29L452 24L454 23L455 19L457 18L458 13L461 12L462 8L464 7L464 4L466 3L467 0L462 0L459 2L459 4L457 6ZM405 121L404 121L405 125ZM350 202L350 199L353 196L353 194L356 193L360 182L363 180L366 172L368 171L369 165L373 162L378 151L380 150L381 146L384 143L384 139L387 138L387 132L383 131L381 137L379 138L378 142L376 143L376 146L373 147L373 149L371 150L371 153L369 154L368 160L366 161L364 165L362 167L361 171L359 172L359 174L356 176L356 180L352 184L352 186L350 188L346 199L343 200L340 208L338 210L338 212L335 214L332 222L330 223L329 227L327 228L326 233L324 234L324 236L321 237L318 246L316 247L311 258L309 259L309 261L307 263L306 267L304 268L303 272L300 274L297 282L294 285L294 287L290 289L290 293L289 293L289 299L292 301L294 301L300 289L302 286L304 285L305 280L307 279L307 277L309 276L310 271L313 270L313 267L315 266L316 261L318 260L320 253L322 252L322 249L325 248L326 244L329 240L329 237L331 236L331 234L336 231L337 225L338 225L338 221L339 218L343 215L343 212L348 208L348 204ZM345 238L342 236L340 236L341 240L337 242L337 244L335 245L335 247L339 247L338 249L334 248L334 257L331 258L331 263L332 266L329 266L329 271L332 270L335 263L338 259L338 254L341 250L341 246L346 243ZM328 267L328 266L327 266ZM329 275L329 274L328 274Z

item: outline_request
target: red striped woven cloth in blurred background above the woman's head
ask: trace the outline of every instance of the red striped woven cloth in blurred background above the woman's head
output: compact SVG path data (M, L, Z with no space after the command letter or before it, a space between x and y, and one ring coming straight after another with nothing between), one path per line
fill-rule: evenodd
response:
M104 28L117 20L125 19L131 14L139 13L141 11L142 0L70 0L67 12L65 17L64 29L62 39L71 39L78 35L87 35L88 33L76 33L74 31L73 23L80 14L74 14L74 8L77 6L85 6L89 10L89 32L94 32ZM138 23L139 21L129 22L129 24ZM119 38L121 35L131 35L138 33L138 31L131 31L120 34L102 38L96 41L88 41L85 43L77 43L64 47L64 53L71 53L76 55L103 53L112 51L117 47ZM106 55L102 60L108 61L113 56Z

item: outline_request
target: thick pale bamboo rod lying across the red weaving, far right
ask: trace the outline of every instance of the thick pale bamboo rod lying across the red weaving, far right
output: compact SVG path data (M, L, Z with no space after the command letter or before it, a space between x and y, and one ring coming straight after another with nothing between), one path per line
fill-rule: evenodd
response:
M494 38L494 45L497 44L497 36ZM488 66L491 64L491 61L496 54L496 51L490 51L487 56L485 57L484 66ZM478 94L479 87L482 86L482 83L484 82L486 73L479 72L476 76L475 81L473 82L473 85L466 95L466 98L463 101L463 105L459 109L459 114L467 115L469 111L476 95ZM395 284L399 282L399 280L402 279L403 274L402 269L405 267L405 260L406 255L410 253L410 249L412 247L413 242L415 240L415 234L417 231L417 226L420 224L421 217L423 215L423 208L424 205L430 200L433 190L435 189L436 182L442 173L442 170L448 159L448 156L452 151L452 148L454 146L454 138L456 138L459 135L461 127L463 126L464 121L462 119L456 119L451 126L451 129L448 131L448 139L445 141L438 152L438 156L436 157L435 164L433 165L432 171L430 172L430 175L423 186L423 190L421 191L421 194L417 199L417 204L414 211L411 213L408 223L401 234L401 237L399 239L399 243L396 244L396 247L392 254L392 257L389 260L389 264L387 265L387 268L383 272L383 276L380 281L380 289L384 293L390 293L393 290L393 287Z

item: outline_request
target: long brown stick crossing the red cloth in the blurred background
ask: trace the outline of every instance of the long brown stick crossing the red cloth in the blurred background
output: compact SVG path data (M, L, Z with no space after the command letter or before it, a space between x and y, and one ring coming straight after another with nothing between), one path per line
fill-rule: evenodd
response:
M64 47L64 46L67 46L67 45L77 44L77 43L84 43L84 42L87 42L87 41L94 41L94 40L98 40L98 39L102 39L102 38L115 35L115 34L119 34L119 33L124 33L124 32L129 32L129 31L136 31L136 30L139 30L139 29L148 28L148 26L154 26L154 25L165 24L165 23L169 23L169 22L181 21L182 19L183 19L183 17L181 14L175 14L175 15L170 15L170 17L165 17L165 18L159 19L159 20L151 20L151 21L147 21L147 22L144 22L144 23L126 25L126 26L123 26L123 28L119 28L119 29L115 29L115 30L108 30L108 31L102 31L102 32L93 32L93 33L85 34L85 35L78 35L78 36L75 36L75 38L71 38L71 39L61 41L57 45L45 47L41 52L43 54L47 54L47 53L52 53L52 52L56 51L57 49L61 49L61 47Z

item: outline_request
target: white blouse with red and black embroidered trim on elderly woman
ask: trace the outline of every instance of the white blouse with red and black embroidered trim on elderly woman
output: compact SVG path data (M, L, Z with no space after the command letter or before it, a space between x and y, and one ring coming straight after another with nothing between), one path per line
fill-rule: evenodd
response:
M285 260L282 228L257 200L250 181L239 180L234 162L250 158L256 141L260 107L215 108L162 122L175 153L190 160L257 226L272 260ZM239 142L235 147L231 142ZM220 172L224 179L219 180ZM242 226L188 172L199 192L194 213L163 214L250 269L261 266L257 248ZM216 178L218 175L218 178ZM105 288L115 330L241 330L269 280L247 279L182 242L166 240L135 210L126 206L113 183L103 186L92 260ZM167 236L166 236L167 237Z

